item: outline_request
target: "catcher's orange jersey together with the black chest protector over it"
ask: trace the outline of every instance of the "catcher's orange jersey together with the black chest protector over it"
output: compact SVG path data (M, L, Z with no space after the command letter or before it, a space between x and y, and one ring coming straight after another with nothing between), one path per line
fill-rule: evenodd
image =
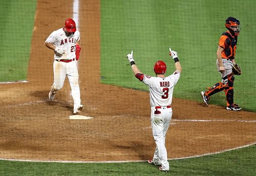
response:
M224 32L219 40L219 46L223 48L222 58L234 59L237 49L237 36L233 36L229 31Z

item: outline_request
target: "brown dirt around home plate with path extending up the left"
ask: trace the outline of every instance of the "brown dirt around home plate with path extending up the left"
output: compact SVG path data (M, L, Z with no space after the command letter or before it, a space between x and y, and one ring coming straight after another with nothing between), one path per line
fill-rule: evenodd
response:
M72 1L69 1L72 3ZM0 84L0 158L68 161L127 161L152 158L150 104L146 92L100 83L99 0L80 1L81 115L70 120L73 100L69 83L54 101L53 53L48 35L72 17L72 4L37 1L27 83ZM50 8L51 7L51 8ZM71 8L67 8L71 7ZM65 13L64 13L65 12ZM174 98L166 137L168 158L188 157L256 141L256 114ZM182 121L186 119L212 121ZM243 122L245 120L247 122Z

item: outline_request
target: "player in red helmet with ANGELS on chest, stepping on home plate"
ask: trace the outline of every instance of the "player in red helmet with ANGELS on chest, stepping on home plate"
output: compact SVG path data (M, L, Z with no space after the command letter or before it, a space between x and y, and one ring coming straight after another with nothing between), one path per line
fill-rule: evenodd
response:
M69 79L74 100L74 114L83 109L78 84L78 59L80 53L80 32L76 30L76 23L68 18L65 27L53 31L45 41L45 46L54 51L53 73L54 82L49 92L49 99L53 100L65 82Z

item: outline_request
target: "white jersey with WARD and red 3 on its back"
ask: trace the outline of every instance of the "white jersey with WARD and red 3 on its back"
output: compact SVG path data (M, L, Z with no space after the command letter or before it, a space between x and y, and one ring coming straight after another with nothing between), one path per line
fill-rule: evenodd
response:
M136 75L136 77L148 85L151 107L172 104L174 86L180 78L179 71L176 70L172 75L165 78L151 77L145 74Z

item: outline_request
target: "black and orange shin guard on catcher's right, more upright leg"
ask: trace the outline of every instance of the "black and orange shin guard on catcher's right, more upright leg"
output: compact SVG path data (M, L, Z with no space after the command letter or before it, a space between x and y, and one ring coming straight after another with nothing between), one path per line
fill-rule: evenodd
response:
M233 84L234 84L234 75L229 74L228 75L228 82L225 87L225 94L226 94L226 99L227 99L227 106L233 104L234 100L234 91L233 91Z

